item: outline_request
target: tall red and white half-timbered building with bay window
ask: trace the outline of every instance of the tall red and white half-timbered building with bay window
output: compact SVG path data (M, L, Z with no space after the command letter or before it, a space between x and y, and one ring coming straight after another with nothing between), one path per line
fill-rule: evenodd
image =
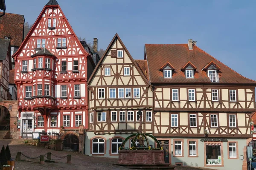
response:
M21 136L87 128L87 78L95 65L56 0L44 6L14 58Z

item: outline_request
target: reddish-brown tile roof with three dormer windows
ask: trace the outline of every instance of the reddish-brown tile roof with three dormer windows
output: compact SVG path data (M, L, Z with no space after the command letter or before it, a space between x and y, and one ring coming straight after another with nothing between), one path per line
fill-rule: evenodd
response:
M210 62L219 68L219 83L251 83L256 81L241 76L227 65L218 61L202 49L193 45L189 50L187 44L145 44L145 59L148 61L149 78L151 83L211 83L207 72L202 69ZM169 62L175 68L172 79L165 79L160 68ZM191 62L197 68L194 79L186 79L181 68Z

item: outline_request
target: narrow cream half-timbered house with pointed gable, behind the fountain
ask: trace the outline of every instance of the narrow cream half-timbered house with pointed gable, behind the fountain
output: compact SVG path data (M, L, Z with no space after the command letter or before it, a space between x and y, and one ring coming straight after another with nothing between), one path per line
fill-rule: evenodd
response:
M153 93L145 77L145 64L134 61L118 34L113 37L88 80L85 154L118 156L122 141L138 131L139 109L143 112L143 132L152 134Z

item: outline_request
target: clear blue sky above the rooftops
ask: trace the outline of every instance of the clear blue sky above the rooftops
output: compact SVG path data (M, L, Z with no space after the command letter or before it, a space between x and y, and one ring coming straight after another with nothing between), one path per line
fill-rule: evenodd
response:
M134 59L145 44L197 41L239 74L256 80L255 0L57 0L78 37L106 49L117 32ZM48 0L6 0L6 12L34 23ZM90 41L88 41L90 42Z

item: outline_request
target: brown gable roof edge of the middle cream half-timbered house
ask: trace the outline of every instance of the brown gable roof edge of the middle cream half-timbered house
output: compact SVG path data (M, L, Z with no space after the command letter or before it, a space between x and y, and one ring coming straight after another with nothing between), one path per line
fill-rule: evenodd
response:
M106 54L108 53L108 51L110 50L111 46L113 45L113 43L119 40L120 44L122 45L122 47L125 49L128 57L131 59L131 62L134 63L135 68L137 68L137 71L140 73L141 77L143 78L144 82L146 84L149 85L148 80L146 79L145 75L142 73L142 71L140 70L139 66L137 65L137 63L134 61L134 59L131 57L131 54L129 53L129 51L127 50L127 48L125 47L124 43L122 42L122 40L120 39L120 37L118 36L118 34L116 33L115 36L113 37L113 39L111 40L111 42L108 45L108 48L106 49L105 53L102 55L101 59L99 60L98 64L96 65L96 68L94 68L93 73L91 74L90 78L88 79L88 84L90 84L91 80L93 79L94 75L96 74L96 71L99 69L100 65L102 64L103 60L106 57Z

